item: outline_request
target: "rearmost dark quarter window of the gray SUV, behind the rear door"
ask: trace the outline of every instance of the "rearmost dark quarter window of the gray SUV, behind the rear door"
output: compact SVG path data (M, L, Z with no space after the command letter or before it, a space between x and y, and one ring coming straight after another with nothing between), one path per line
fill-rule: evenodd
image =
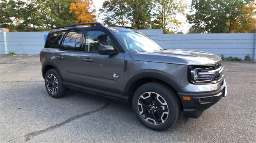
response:
M45 42L45 48L56 48L58 49L64 36L64 32L62 33L49 33Z

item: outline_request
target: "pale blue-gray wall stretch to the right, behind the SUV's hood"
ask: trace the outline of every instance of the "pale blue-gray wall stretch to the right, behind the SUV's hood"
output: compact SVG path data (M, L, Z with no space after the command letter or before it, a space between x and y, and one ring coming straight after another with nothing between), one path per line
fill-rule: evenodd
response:
M250 54L256 61L256 33L163 34L161 29L140 31L165 49L205 51L242 59Z

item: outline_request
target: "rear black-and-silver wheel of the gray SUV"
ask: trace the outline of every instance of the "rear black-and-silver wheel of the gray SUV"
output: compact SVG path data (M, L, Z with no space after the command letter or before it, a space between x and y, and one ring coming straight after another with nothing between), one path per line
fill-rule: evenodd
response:
M62 80L56 69L50 69L46 72L44 84L48 94L53 98L60 98L64 96L65 89L62 86Z

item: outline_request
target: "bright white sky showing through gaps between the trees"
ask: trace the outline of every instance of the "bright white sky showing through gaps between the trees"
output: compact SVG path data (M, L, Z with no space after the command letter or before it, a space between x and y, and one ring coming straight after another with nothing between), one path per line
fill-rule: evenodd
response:
M186 2L188 4L188 8L191 4L191 1L192 0L184 0L184 2ZM104 2L104 0L93 0L93 3L94 3L94 6L95 6L95 9L97 11L97 21L98 22L102 22L101 19L102 17L100 16L99 14L99 9L102 8L102 3ZM185 10L185 14L188 14L189 13L189 9ZM188 22L186 22L186 16L182 16L182 15L178 15L176 17L180 22L182 22L182 25L180 27L180 30L183 32L183 33L187 33L188 32L188 29L190 28L190 24L188 24Z

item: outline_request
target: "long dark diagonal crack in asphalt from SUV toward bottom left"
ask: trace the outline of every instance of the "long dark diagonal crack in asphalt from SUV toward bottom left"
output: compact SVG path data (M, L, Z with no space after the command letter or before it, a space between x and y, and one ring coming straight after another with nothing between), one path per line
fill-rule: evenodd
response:
M91 115L93 113L96 113L96 112L99 112L101 110L104 110L104 109L106 109L107 106L110 105L110 102L111 102L111 100L108 100L102 107L100 107L100 108L98 108L96 110L92 110L90 112L86 112L86 113L83 113L83 114L79 114L79 115L70 117L70 118L66 119L65 121L63 121L63 122L58 123L56 125L52 125L52 126L46 128L46 129L42 129L40 131L34 131L32 133L28 133L28 134L24 135L24 137L26 137L25 142L29 141L31 139L31 137L34 137L34 136L40 135L42 133L45 133L47 131L56 129L58 127L61 127L61 126L65 125L66 123L69 123L69 122L71 122L71 121L73 121L75 119L79 119L79 118L82 118L82 117L85 117L85 116L89 116L89 115Z

